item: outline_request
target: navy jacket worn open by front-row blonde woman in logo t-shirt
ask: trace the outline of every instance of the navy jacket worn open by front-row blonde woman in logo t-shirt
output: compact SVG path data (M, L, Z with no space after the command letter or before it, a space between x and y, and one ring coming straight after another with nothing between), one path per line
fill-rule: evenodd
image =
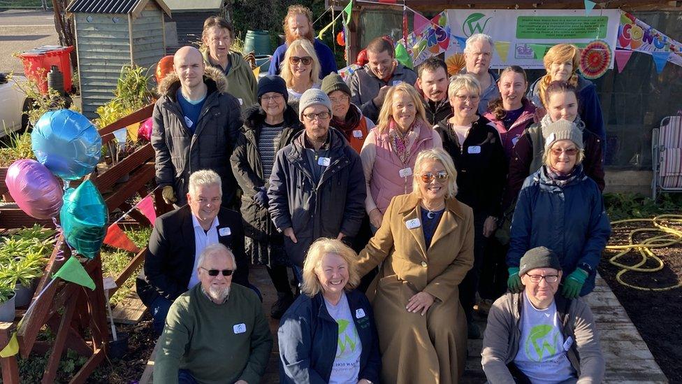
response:
M382 358L372 305L358 290L346 292L348 306L362 343L360 375L379 383ZM336 357L339 326L327 312L321 292L301 294L280 320L280 383L326 384Z

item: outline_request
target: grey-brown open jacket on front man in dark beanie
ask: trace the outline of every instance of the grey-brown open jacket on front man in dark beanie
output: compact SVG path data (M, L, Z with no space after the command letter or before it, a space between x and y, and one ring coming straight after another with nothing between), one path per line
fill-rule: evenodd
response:
M521 305L523 292L509 293L495 300L488 313L488 326L483 339L481 364L492 384L514 384L507 364L514 362L521 338ZM567 300L554 296L562 323L564 339L574 340L567 351L568 360L578 375L578 383L601 383L604 379L604 357L590 307L582 299Z

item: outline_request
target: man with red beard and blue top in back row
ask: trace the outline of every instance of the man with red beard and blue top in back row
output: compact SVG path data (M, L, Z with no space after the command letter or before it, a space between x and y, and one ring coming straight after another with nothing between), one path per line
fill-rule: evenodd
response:
M289 6L286 11L286 16L284 16L284 36L286 42L275 50L273 53L273 59L270 61L270 69L268 69L268 75L279 75L280 66L282 65L282 60L284 59L284 53L286 53L286 48L297 38L307 38L310 40L315 48L315 53L317 53L317 58L319 59L321 71L320 78L324 78L329 73L338 71L338 66L336 66L336 60L334 59L334 53L326 46L324 43L314 38L314 30L312 28L312 12L309 8L299 5Z

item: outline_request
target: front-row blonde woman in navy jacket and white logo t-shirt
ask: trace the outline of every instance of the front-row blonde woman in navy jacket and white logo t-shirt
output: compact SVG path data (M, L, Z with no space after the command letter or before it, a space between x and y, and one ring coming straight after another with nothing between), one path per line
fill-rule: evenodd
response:
M354 288L358 255L318 239L303 263L301 295L280 321L280 383L379 383L381 357L372 306Z

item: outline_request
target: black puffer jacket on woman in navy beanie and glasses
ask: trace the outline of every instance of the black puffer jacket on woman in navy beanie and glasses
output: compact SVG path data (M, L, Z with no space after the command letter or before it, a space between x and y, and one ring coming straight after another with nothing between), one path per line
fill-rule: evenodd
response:
M258 140L265 122L266 113L258 104L244 111L244 125L237 138L237 146L230 162L237 183L242 188L242 220L246 236L257 241L275 241L282 243L282 235L277 232L267 207L261 207L254 201L254 194L261 187L268 187L269 180L263 180L263 164L258 148ZM275 153L291 143L293 136L302 129L296 111L287 105L284 110L284 123L280 143Z

